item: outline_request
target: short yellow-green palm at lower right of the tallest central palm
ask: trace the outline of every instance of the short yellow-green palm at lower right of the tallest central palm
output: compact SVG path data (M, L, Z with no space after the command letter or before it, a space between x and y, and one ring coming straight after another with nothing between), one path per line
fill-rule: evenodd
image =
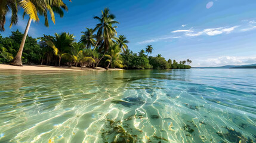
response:
M108 60L106 60L106 62L109 62L109 64L106 67L106 70L109 69L111 63L113 63L114 66L122 67L122 60L118 56L119 50L120 48L118 44L115 44L109 49L109 54L104 55L105 57L109 58Z

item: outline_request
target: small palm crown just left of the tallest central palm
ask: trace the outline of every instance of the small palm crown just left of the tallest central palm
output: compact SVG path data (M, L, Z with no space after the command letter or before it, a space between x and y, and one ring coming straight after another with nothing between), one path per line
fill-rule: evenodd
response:
M94 29L89 29L87 27L85 27L87 29L86 32L82 32L84 33L84 35L81 36L80 42L84 43L86 45L86 48L89 49L91 48L91 46L95 46L96 45L96 35L94 35Z

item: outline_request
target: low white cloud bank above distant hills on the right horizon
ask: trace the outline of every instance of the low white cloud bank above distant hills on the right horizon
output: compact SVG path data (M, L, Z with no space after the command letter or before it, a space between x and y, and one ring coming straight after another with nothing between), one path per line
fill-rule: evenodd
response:
M232 56L223 56L217 58L206 58L201 60L196 60L194 66L202 67L216 67L216 66L226 66L226 65L244 65L244 64L255 64L255 57L232 57Z

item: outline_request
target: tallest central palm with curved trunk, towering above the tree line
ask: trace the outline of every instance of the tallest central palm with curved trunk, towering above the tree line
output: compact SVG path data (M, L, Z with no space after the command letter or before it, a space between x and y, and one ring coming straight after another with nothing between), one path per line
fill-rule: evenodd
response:
M101 11L102 15L101 17L94 17L94 19L97 19L100 21L95 27L94 30L97 31L97 43L103 40L103 43L101 44L101 48L104 48L104 54L98 60L96 67L98 66L98 63L100 63L101 59L104 57L106 52L109 50L109 46L113 44L112 38L117 34L116 33L116 26L112 26L112 24L118 23L118 21L115 21L115 15L109 14L109 9L105 8L104 11ZM96 45L97 45L96 43Z

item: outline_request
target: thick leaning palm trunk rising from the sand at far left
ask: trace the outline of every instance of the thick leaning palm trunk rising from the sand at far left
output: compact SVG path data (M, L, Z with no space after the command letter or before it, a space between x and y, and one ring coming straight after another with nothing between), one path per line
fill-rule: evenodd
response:
M27 22L27 27L26 27L26 29L25 29L25 32L24 32L22 41L21 41L21 43L20 43L20 49L18 49L17 55L16 55L16 57L13 59L13 61L10 62L10 65L13 65L13 66L22 66L21 55L22 55L23 48L24 48L24 45L25 45L25 42L26 42L27 33L29 32L29 27L30 27L31 21L32 21L32 19L29 18L29 21Z

